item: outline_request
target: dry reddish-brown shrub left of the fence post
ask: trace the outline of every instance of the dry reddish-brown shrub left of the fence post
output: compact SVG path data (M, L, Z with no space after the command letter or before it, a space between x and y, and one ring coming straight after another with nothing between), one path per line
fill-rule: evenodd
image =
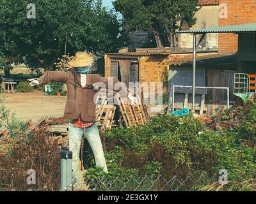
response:
M1 154L0 191L60 190L60 150L56 142L49 142L48 136L41 131L31 136L29 145L16 138L8 154ZM36 171L35 185L26 182L30 169Z

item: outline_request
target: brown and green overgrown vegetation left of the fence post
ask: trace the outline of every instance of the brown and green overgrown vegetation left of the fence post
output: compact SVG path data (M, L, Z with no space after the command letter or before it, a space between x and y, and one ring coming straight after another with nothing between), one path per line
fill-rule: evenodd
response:
M3 95L4 96L4 95ZM23 133L28 122L19 120L0 100L0 127L9 135L0 143L0 191L28 191L28 170L35 170L36 184L31 190L58 191L60 189L60 152L58 145L49 142L44 131L36 135Z

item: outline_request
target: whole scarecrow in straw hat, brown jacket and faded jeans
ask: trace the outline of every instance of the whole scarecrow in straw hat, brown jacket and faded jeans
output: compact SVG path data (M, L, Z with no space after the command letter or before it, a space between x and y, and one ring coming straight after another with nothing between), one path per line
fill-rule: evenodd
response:
M100 141L99 130L95 122L95 102L93 98L99 91L97 90L98 82L102 82L108 87L115 87L119 83L118 91L127 94L124 86L116 79L91 75L90 70L93 64L93 56L86 52L77 52L75 57L69 62L70 69L65 71L47 71L42 77L31 79L30 85L44 85L49 82L63 82L67 84L67 103L65 106L64 116L72 119L68 126L68 145L72 151L72 183L78 184L79 177L79 150L83 136L88 140L92 148L96 166L101 166L103 171L108 173L102 143ZM132 98L131 94L129 98ZM80 178L80 179L79 179ZM82 176L83 178L83 176Z

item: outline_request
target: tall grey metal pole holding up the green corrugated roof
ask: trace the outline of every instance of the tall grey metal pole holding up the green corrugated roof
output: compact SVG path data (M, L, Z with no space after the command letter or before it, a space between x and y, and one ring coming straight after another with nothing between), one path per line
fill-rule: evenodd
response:
M196 34L193 34L193 86L192 86L192 110L195 110L196 98Z

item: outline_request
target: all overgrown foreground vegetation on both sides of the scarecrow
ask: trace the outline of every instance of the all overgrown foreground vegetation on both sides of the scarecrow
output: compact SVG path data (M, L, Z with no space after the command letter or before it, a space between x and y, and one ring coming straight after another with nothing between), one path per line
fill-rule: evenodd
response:
M10 131L7 152L0 154L0 190L31 188L24 182L26 171L31 168L43 172L36 176L33 188L59 190L60 156L56 143L49 142L44 131L17 138L26 123L15 119L3 105L0 108L0 126ZM84 159L86 182L96 190L111 184L111 190L117 191L124 186L128 191L170 191L175 190L175 185L170 188L166 181L177 177L180 181L189 178L180 191L256 191L256 149L241 145L244 138L255 141L255 108L255 102L248 101L243 110L246 120L232 130L205 131L193 115L157 115L144 126L105 131L101 136L109 173L95 167L89 149ZM220 170L228 172L227 185L218 182Z

